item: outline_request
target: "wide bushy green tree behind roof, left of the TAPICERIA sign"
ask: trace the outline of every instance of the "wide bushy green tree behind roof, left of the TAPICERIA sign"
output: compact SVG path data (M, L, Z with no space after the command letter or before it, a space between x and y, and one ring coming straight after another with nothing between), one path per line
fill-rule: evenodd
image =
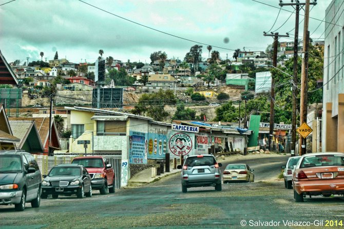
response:
M155 93L144 93L135 109L132 110L133 114L146 115L157 121L166 120L169 113L165 110L166 105L176 104L174 92L171 90L162 90Z

